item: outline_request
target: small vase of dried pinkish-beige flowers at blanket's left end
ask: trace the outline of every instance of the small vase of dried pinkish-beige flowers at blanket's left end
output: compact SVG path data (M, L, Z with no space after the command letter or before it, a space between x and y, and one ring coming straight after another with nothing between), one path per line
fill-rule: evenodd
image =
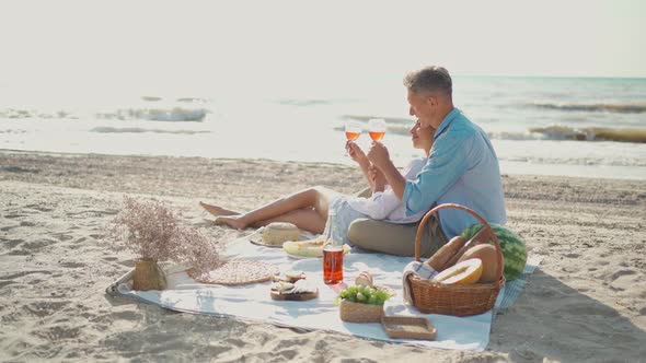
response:
M124 209L108 226L113 246L135 253L135 290L164 290L160 261L173 261L196 271L208 271L219 261L217 247L198 230L181 222L164 203L124 197Z

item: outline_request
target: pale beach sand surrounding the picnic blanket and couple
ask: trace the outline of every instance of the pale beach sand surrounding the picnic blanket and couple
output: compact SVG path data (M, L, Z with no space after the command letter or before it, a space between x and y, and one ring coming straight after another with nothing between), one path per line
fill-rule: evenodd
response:
M105 225L123 195L171 203L214 242L199 200L250 209L292 190L364 186L347 166L0 151L0 361L646 360L646 182L504 176L508 225L543 256L485 352L423 350L177 314L105 294L134 266Z

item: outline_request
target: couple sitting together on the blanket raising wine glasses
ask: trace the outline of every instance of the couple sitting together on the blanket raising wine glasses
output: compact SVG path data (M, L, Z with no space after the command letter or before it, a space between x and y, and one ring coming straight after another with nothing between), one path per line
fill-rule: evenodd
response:
M249 212L200 206L217 215L218 223L234 229L289 222L319 234L332 227L339 234L335 237L346 244L399 256L415 256L418 221L437 204L462 204L488 223L504 224L507 216L496 153L487 134L453 107L449 72L427 67L406 75L404 85L409 114L417 118L411 128L413 147L424 149L426 157L413 160L401 173L382 143L372 142L365 153L348 141L346 148L368 179L370 196L313 187ZM476 220L463 211L443 209L429 222L420 241L426 257Z

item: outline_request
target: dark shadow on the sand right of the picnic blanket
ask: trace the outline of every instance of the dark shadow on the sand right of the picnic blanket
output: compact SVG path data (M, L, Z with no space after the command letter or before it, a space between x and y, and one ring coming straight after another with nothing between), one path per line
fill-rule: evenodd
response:
M516 303L496 317L488 350L518 362L644 362L646 332L537 269Z

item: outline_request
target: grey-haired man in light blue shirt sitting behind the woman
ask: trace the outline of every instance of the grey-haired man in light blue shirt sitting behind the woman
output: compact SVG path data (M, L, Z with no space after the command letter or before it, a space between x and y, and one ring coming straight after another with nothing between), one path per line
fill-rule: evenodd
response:
M430 156L414 180L406 180L390 160L388 149L373 142L367 156L383 173L406 215L441 203L458 203L476 211L489 223L507 220L503 182L496 153L487 134L453 107L452 80L442 67L427 67L406 75L404 85L411 116L420 127L436 129ZM429 256L476 220L458 209L443 209L430 221L423 239ZM355 221L349 241L359 247L396 255L414 255L417 225L394 230L383 222ZM402 236L395 238L395 233ZM393 246L393 244L395 246Z

